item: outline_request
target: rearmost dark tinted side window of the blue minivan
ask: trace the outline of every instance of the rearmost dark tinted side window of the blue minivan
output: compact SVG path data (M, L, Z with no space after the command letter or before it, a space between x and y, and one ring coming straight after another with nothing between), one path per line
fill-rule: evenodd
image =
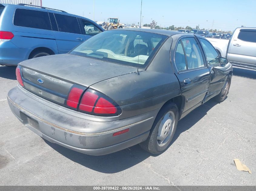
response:
M29 9L16 9L14 25L52 30L48 12Z

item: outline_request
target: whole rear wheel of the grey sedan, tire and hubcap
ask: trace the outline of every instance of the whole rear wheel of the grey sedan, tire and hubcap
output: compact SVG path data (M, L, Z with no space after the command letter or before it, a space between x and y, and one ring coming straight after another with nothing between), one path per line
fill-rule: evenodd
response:
M175 103L168 103L159 111L147 140L140 143L141 148L152 154L164 152L171 143L177 123L178 107Z

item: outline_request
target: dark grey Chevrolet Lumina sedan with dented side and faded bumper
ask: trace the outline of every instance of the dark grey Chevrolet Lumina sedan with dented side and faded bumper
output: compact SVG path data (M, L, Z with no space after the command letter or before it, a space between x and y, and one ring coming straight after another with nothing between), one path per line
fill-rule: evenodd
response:
M21 62L16 76L9 106L42 138L90 155L136 144L160 154L179 119L225 100L232 66L198 35L117 29L68 54Z

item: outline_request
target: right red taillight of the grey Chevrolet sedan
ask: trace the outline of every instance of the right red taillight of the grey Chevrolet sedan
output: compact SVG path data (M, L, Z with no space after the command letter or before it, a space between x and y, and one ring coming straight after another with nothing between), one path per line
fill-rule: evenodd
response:
M121 108L117 103L104 94L91 89L85 91L78 110L100 116L117 116L121 114Z

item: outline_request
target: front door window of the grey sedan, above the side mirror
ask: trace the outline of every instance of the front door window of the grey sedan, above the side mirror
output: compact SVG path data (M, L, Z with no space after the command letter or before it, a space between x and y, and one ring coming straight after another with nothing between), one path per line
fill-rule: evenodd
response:
M218 55L218 52L215 50L215 48L209 43L207 40L199 38L203 45L204 52L206 54L208 65L212 64L219 64L220 58Z

